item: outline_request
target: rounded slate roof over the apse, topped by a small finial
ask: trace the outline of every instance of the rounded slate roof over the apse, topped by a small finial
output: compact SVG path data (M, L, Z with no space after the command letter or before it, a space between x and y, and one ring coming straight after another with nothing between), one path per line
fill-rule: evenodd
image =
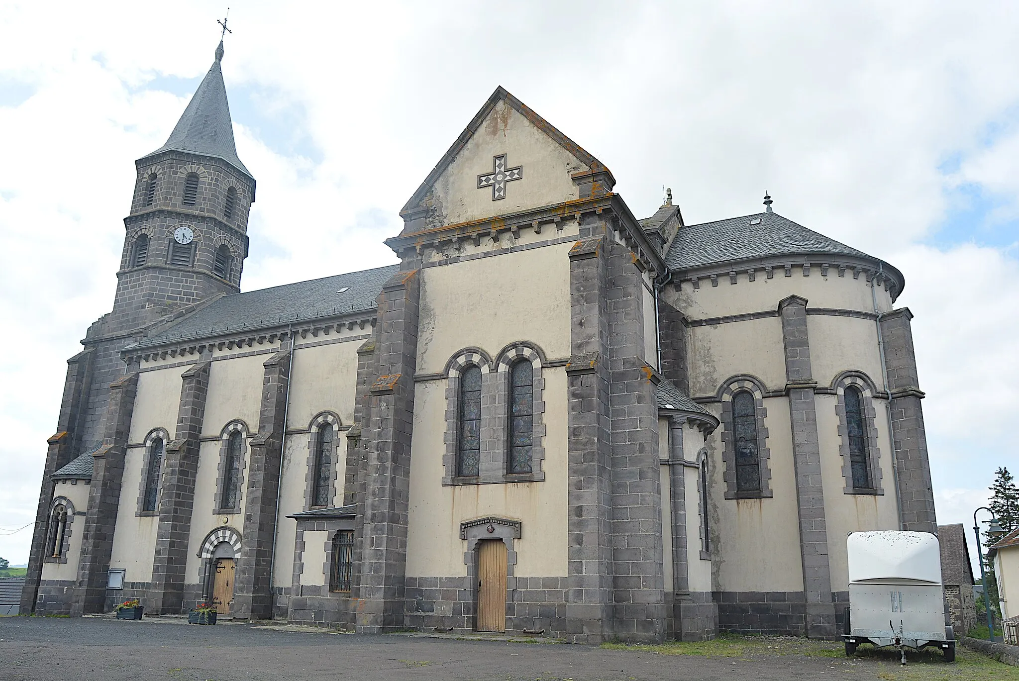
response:
M760 222L750 224L753 220ZM872 259L777 213L756 213L688 224L673 240L665 262L672 269L688 269L729 260L797 253L835 253Z

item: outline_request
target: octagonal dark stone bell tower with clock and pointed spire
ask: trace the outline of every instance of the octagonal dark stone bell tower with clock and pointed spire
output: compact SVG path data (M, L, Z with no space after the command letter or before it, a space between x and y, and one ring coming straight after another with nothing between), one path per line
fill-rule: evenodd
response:
M166 144L136 161L106 333L239 291L255 178L237 158L222 59L221 41Z

